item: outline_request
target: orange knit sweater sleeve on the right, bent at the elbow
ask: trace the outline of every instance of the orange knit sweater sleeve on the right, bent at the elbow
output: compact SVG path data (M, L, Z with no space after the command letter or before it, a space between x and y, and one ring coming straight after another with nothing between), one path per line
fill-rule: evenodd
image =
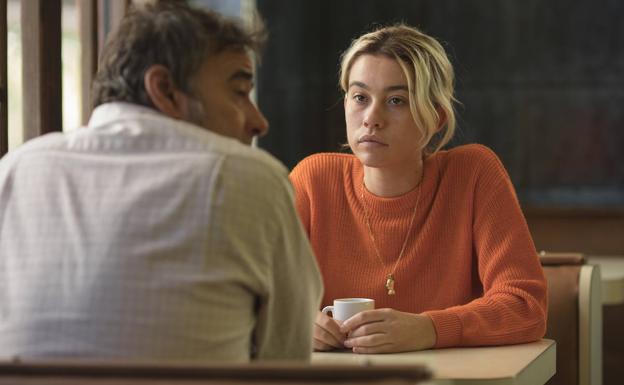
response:
M436 347L524 343L546 330L546 280L511 180L482 148L473 198L473 249L483 295L428 311Z

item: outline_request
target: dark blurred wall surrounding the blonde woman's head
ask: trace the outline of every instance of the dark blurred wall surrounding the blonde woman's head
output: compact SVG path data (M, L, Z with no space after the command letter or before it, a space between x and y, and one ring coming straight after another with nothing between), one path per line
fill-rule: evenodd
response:
M261 146L288 166L345 142L340 53L378 25L439 39L455 67L458 133L503 160L521 200L624 206L624 2L258 0L271 31ZM622 234L624 237L624 234Z

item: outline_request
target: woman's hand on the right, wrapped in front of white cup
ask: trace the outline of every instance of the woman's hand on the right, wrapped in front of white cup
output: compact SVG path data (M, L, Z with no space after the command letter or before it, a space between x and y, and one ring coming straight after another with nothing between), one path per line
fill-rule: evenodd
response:
M431 348L436 331L425 315L394 309L367 310L346 320L340 331L347 334L344 346L354 353L394 353Z

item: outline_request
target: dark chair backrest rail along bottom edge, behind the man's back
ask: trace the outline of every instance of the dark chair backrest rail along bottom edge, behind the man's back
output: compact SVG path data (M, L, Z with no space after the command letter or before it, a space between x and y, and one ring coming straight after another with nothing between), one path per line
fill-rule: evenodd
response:
M0 384L146 385L415 384L424 366L309 365L293 362L176 364L88 360L0 361Z

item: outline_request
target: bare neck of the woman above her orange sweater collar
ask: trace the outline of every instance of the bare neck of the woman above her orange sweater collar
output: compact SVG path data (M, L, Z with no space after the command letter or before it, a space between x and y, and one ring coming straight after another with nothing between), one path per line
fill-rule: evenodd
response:
M423 178L422 158L414 167L368 167L364 166L364 185L380 197L403 195L418 186Z

